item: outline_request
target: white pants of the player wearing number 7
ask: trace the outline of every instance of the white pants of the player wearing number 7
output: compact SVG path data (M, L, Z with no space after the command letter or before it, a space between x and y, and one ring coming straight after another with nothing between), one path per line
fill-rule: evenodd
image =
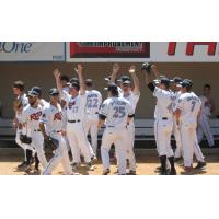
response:
M199 162L204 162L204 155L197 141L197 124L181 124L181 135L184 154L184 166L193 165L193 154Z

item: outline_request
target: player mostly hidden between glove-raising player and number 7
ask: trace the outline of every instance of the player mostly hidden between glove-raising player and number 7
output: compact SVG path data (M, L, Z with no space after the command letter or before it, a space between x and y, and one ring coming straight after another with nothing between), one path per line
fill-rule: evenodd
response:
M174 103L173 103L173 111L175 112L175 107L176 107L176 103L178 101L178 97L181 96L182 92L181 92L181 89L182 89L182 78L180 77L175 77L172 82L173 82L173 93L174 93ZM175 150L175 154L174 154L174 158L175 158L175 161L178 161L182 155L183 155L183 149L182 149L182 140L181 140L181 131L180 131L180 128L176 124L176 120L175 120L175 117L174 117L174 120L173 120L173 134L174 134L174 137L175 137L175 141L176 141L176 150Z

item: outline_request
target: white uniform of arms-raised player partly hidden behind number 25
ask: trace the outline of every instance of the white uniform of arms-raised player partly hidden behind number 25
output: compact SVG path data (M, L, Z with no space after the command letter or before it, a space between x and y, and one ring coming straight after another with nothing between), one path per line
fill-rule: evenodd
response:
M134 94L132 92L129 93L129 95L124 95L124 99L126 99L131 107L134 108L134 113L136 112L136 106L139 101L140 94ZM129 169L131 171L136 171L136 158L134 153L134 142L135 142L135 124L134 119L129 123L127 126L128 128L128 137L127 137L127 159L129 160Z

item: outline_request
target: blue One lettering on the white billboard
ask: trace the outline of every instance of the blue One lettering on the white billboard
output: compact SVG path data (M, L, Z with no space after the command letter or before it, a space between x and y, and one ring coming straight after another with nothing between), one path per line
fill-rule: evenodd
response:
M0 42L0 53L20 53L27 54L31 51L32 43Z

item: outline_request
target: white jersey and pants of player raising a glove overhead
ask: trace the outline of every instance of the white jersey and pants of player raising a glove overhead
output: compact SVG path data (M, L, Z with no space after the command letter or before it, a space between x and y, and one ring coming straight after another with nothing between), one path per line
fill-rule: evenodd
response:
M159 157L173 157L171 134L173 129L173 92L155 88L154 136Z

